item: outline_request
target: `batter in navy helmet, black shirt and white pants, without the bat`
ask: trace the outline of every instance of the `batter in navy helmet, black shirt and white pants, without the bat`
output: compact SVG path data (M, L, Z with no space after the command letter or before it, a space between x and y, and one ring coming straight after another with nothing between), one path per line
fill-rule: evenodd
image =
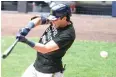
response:
M33 17L25 28L22 28L16 38L37 51L37 57L22 77L63 77L62 57L75 40L75 30L70 20L71 10L65 4L51 7L50 15ZM50 24L41 36L39 42L25 38L28 32L39 25Z

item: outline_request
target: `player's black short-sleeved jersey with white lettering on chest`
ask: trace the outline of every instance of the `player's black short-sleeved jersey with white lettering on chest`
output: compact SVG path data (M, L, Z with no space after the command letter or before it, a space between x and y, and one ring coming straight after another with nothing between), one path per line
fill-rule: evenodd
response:
M75 30L73 24L57 29L50 25L41 36L39 43L46 44L50 40L54 40L54 42L59 46L59 49L46 54L37 52L37 58L34 63L35 69L43 73L62 71L62 57L70 48L74 39Z

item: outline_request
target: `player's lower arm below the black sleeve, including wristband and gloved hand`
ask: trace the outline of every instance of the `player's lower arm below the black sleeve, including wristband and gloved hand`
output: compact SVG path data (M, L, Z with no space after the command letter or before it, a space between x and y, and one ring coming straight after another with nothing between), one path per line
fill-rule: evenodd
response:
M41 52L43 54L59 49L59 46L53 40L49 41L47 44L44 45L41 43L35 43L33 41L30 41L22 35L17 36L17 38L19 38L20 42L23 42L23 43L29 45L36 51Z

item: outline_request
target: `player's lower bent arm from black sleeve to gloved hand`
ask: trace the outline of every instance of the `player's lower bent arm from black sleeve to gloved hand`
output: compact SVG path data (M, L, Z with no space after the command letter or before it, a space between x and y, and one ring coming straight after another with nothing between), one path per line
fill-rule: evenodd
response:
M33 49L43 54L58 50L59 48L62 48L73 41L71 36L66 36L64 34L61 34L61 36L55 38L54 40L49 41L45 45L30 41L26 39L24 36L17 36L17 37L19 38L19 41L26 43Z

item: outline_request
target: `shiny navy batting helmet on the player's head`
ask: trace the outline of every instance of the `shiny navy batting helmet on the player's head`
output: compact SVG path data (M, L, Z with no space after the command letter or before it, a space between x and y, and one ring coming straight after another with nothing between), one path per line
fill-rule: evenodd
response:
M71 16L71 10L68 5L65 4L57 4L51 7L50 15L48 17L49 20L56 20L59 17L63 16Z

